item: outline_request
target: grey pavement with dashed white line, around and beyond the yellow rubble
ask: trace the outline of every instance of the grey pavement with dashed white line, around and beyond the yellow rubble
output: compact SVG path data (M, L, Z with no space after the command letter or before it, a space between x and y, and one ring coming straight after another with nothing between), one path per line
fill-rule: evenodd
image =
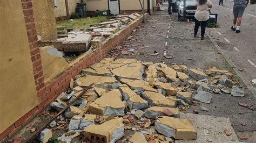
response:
M119 46L128 45L127 48L134 50L136 54L120 54L113 51L109 56L117 58L135 58L147 62L164 62L167 65L187 65L188 68L218 69L232 71L232 68L223 56L217 51L210 39L205 35L205 40L193 37L193 23L179 22L177 13L172 16L167 14L167 3L161 7L163 11L155 12L144 24L137 28L130 37L126 38ZM200 35L200 30L198 32ZM129 45L131 44L131 45ZM139 48L136 48L139 47ZM129 52L128 52L129 53ZM165 58L165 53L167 59ZM209 111L200 111L200 106L192 106L185 112L192 113L199 110L201 115L226 117L231 121L235 132L253 132L256 130L255 113L250 109L238 105L239 102L256 105L253 95L246 89L241 80L234 74L233 77L245 91L245 97L233 97L226 94L213 94L211 104L200 103ZM243 115L238 112L244 111ZM241 123L246 123L242 126ZM239 137L238 137L239 138Z

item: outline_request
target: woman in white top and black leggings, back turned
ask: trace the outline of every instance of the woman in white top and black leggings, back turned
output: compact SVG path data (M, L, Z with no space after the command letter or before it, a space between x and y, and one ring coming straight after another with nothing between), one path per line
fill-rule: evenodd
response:
M210 16L208 9L212 8L212 2L210 2L210 0L197 0L196 6L197 11L194 14L194 17L196 18L194 25L194 37L197 36L199 26L201 26L201 40L204 40L205 27Z

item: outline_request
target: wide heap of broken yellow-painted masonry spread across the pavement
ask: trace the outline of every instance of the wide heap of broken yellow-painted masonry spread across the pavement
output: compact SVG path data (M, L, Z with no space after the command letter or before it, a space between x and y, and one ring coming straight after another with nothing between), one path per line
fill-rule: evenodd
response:
M179 118L180 110L197 102L211 103L212 92L244 96L232 76L217 68L204 71L185 65L169 67L164 63L106 58L83 69L71 80L72 90L63 92L50 105L60 111L81 89L95 83L50 127L68 130L58 138L66 142L80 134L83 140L92 142L195 140L197 129L190 119ZM49 138L51 130L46 128L39 139Z

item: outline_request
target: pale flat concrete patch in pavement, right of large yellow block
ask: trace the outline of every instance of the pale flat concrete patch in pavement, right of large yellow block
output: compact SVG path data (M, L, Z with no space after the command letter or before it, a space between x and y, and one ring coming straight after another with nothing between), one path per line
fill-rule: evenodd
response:
M192 121L193 125L197 128L196 140L175 140L175 142L208 142L207 139L212 139L213 142L239 142L237 135L231 125L230 119L223 117L213 117L206 115L199 115L194 113L180 113L180 118L188 118ZM231 130L233 134L227 136L224 130ZM205 135L208 130L210 134Z

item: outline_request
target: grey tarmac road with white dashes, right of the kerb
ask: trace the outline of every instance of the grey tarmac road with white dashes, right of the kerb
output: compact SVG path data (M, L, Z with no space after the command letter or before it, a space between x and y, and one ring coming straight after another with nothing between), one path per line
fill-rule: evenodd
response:
M224 1L224 6L219 6L218 0L212 3L212 13L218 13L220 27L207 28L207 31L237 68L247 69L241 74L252 82L256 78L256 5L247 6L242 17L241 33L235 33L231 30L233 2Z

